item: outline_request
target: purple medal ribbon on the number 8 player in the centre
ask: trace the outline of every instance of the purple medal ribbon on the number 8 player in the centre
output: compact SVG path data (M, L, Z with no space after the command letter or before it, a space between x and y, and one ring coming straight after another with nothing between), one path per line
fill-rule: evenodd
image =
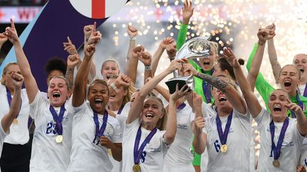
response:
M141 154L143 153L146 144L148 144L151 138L154 137L156 131L156 127L154 128L154 130L151 130L149 135L144 139L144 142L141 144L141 147L139 147L139 142L141 140L141 125L139 126L139 130L136 133L136 140L134 142L134 164L139 164L139 159L141 158Z

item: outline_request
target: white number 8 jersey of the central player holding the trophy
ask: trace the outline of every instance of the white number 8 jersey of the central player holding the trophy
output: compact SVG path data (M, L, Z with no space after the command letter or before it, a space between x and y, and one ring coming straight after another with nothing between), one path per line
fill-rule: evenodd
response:
M131 124L125 126L122 142L122 171L132 171L132 167L134 166L134 142L140 125L141 123L139 122L139 119L136 119ZM150 132L151 131L144 129L144 127L141 127L139 147ZM166 131L160 131L157 129L154 137L152 137L151 141L146 144L139 160L141 171L163 171L163 162L169 147L169 145L163 141L163 135L165 132Z

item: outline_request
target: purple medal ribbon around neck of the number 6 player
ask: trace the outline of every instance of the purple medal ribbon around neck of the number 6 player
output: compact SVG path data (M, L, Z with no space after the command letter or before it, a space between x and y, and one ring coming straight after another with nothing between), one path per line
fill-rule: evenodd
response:
M225 130L223 132L222 131L222 122L221 122L220 117L217 113L217 116L216 116L217 133L219 134L220 142L221 142L222 145L226 144L226 142L227 142L227 137L228 137L228 132L230 130L231 122L232 122L232 112L227 117L227 123L226 123L226 126L225 126Z

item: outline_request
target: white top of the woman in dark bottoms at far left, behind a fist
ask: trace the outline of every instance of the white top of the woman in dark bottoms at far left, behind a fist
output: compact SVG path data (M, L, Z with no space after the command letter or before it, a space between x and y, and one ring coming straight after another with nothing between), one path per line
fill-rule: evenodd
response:
M12 96L13 97L13 96ZM29 140L28 117L30 114L30 105L28 104L28 96L26 89L21 90L21 110L18 113L18 125L12 124L10 134L4 139L9 144L26 144ZM9 113L9 102L6 96L6 86L0 84L0 119Z

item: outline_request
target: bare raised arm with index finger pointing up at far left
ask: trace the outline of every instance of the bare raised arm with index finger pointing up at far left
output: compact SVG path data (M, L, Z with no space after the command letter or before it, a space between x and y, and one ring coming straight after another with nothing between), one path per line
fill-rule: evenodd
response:
M11 18L11 27L6 28L6 32L4 33L4 35L6 35L6 37L9 38L9 40L14 45L17 63L19 68L21 69L21 74L23 75L24 78L24 83L28 94L28 101L31 104L34 101L36 93L38 92L38 86L31 72L31 67L30 64L28 63L28 59L26 58L26 55L24 54L23 49L21 47L21 42L19 41L14 21L12 18Z

